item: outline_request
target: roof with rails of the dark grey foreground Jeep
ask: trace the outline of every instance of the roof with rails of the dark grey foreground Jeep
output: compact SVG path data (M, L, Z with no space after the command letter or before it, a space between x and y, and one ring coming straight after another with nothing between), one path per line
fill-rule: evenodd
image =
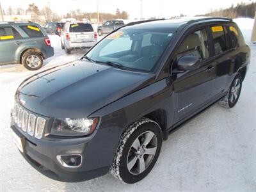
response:
M232 19L225 17L182 17L180 19L160 19L160 20L140 20L131 22L124 26L125 29L177 29L185 24L193 24L196 22L232 22Z

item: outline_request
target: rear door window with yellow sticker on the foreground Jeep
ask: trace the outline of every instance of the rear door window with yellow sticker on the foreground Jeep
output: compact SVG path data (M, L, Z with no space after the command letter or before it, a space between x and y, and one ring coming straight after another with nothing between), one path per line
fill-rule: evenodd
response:
M212 37L214 42L215 54L227 51L227 41L223 26L212 26Z

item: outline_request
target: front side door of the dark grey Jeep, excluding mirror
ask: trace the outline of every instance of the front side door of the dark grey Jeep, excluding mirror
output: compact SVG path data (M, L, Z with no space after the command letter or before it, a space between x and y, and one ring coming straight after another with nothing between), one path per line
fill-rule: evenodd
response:
M220 92L216 86L216 61L212 58L209 28L200 28L186 36L180 45L172 71L175 74L177 62L182 56L195 56L200 68L174 76L175 123L203 108Z

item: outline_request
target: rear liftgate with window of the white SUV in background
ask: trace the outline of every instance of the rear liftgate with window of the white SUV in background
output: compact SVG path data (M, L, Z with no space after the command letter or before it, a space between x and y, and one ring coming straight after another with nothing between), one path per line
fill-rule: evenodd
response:
M69 33L72 43L94 42L94 31L91 24L82 22L70 24Z

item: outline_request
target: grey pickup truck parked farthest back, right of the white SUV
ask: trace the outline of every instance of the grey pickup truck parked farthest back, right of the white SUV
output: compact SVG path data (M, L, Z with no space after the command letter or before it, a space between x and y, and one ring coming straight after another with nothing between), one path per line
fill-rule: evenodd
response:
M111 33L117 28L124 26L123 20L107 20L102 26L99 26L97 32L99 36Z

